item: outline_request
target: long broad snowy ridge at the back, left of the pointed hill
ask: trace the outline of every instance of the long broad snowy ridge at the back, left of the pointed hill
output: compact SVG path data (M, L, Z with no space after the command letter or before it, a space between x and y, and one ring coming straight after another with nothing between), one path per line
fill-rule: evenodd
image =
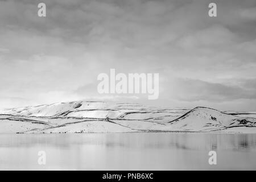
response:
M155 119L168 122L186 113L187 109L165 109L140 104L114 102L60 102L51 105L27 106L2 109L0 114L26 115L33 117L75 117L75 118L112 118L141 120Z

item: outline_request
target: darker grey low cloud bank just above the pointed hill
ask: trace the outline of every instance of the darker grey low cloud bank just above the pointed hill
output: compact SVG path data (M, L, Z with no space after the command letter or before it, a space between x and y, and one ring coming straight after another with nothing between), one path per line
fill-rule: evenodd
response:
M172 83L172 97L184 101L213 101L225 102L239 99L256 99L256 85L248 87L255 80L246 81L241 85L233 86L202 80L177 78Z

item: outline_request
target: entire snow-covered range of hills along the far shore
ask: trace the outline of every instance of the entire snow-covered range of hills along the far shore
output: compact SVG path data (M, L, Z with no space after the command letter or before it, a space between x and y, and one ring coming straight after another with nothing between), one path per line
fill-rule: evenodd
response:
M129 103L75 101L1 109L0 114L0 133L256 133L255 113L224 112L207 107L166 109Z

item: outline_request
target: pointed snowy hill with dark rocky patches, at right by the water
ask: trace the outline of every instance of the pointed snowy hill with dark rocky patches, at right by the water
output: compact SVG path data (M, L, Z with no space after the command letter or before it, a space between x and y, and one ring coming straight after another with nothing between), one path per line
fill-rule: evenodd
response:
M241 118L208 107L196 107L169 122L171 130L177 131L230 131L232 127L255 127L256 119ZM256 127L255 127L256 129ZM241 130L242 132L243 130ZM256 131L256 130L255 130Z

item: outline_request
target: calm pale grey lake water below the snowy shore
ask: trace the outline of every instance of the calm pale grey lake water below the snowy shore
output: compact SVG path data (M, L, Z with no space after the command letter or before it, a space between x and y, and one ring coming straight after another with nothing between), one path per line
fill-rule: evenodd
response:
M211 150L217 165L208 163ZM0 134L0 169L256 169L256 134Z

